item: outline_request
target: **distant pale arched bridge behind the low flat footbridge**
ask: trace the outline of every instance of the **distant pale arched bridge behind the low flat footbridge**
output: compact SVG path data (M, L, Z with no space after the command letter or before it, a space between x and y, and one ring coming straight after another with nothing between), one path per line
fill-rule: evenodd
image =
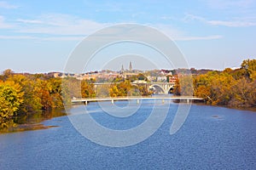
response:
M111 86L113 82L96 82L94 83L95 88L101 88L102 86ZM131 82L132 86L139 87L145 86L148 90L156 92L156 94L170 94L175 83L174 82L144 82L137 81Z

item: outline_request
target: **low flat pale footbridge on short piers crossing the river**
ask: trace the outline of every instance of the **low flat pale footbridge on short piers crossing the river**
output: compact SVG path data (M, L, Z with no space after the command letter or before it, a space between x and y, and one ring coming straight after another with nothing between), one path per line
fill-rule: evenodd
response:
M129 97L117 97L117 98L84 98L84 99L72 99L71 102L74 103L84 103L85 105L88 104L88 102L92 101L111 101L113 104L116 100L137 100L137 104L139 104L140 100L142 99L161 99L162 103L166 100L185 100L187 103L189 103L192 100L202 100L202 98L197 98L195 96L160 96L160 97L142 97L142 96L129 96Z

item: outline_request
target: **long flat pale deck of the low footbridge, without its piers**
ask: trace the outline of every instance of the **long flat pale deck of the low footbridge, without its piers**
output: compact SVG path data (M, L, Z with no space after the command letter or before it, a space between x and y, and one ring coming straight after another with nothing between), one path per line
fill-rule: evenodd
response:
M115 101L115 100L131 100L131 99L189 99L189 100L202 100L193 96L172 96L172 97L119 97L119 98L84 98L72 99L72 103L90 102L90 101Z

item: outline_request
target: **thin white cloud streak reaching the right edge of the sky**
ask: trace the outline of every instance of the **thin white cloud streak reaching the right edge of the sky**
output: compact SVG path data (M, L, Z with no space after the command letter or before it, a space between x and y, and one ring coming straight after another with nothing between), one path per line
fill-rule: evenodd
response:
M184 17L185 21L199 20L207 25L211 26L229 26L229 27L247 27L247 26L256 26L255 20L248 19L236 19L236 20L207 20L201 16L196 16L193 14L187 14Z

